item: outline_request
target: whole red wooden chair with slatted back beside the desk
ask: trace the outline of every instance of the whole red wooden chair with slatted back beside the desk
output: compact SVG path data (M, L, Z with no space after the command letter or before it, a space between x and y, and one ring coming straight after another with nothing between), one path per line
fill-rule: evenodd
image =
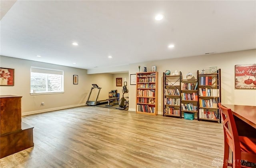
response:
M223 168L232 166L233 168L241 168L250 165L256 165L256 138L239 136L234 116L231 109L218 103L222 124L224 128L224 159ZM229 149L232 150L232 163L229 163ZM252 162L246 164L246 162ZM255 164L253 164L255 163Z

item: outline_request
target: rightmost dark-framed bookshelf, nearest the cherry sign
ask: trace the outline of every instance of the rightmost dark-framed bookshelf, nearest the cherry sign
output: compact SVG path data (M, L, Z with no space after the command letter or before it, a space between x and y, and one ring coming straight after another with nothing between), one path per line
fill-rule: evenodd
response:
M198 78L198 120L209 120L221 123L218 102L221 102L220 69L212 74L200 74Z

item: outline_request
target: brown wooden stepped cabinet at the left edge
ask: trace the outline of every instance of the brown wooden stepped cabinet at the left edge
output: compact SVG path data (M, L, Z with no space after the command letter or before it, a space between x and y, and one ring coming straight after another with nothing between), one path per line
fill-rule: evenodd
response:
M34 146L34 127L21 121L21 98L0 95L0 158Z

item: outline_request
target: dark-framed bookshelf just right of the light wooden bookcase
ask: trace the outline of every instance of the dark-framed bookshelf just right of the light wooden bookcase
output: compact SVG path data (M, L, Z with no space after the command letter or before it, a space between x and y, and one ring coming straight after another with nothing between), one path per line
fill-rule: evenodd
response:
M180 81L179 75L166 75L163 72L163 116L179 117L180 115Z

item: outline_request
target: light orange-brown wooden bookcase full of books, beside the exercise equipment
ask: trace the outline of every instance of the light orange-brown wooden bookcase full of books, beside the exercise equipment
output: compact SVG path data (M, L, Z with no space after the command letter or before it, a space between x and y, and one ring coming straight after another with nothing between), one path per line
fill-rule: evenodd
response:
M157 115L158 72L136 73L136 113Z

